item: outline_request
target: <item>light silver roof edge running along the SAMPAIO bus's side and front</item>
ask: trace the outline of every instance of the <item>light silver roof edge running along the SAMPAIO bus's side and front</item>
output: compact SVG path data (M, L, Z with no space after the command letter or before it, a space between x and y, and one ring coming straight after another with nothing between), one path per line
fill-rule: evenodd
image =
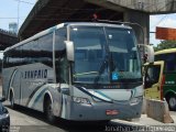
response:
M67 22L67 23L61 23L61 24L57 24L57 25L55 25L55 26L53 26L53 28L50 28L50 29L47 29L47 30L44 30L44 31L42 31L42 32L40 32L40 33L37 33L37 34L35 34L35 35L33 35L33 36L31 36L31 37L22 41L22 42L19 42L19 43L16 43L16 44L10 46L10 47L7 47L7 48L4 50L4 52L7 52L7 51L9 51L9 50L12 50L12 48L14 48L14 47L16 47L16 46L23 45L23 44L25 44L25 43L28 43L28 42L30 42L30 41L36 40L36 38L38 38L38 37L41 37L41 36L43 36L43 35L46 35L46 34L48 34L48 33L52 33L52 32L54 32L55 30L61 29L61 28L64 28L64 26L67 26L67 25L109 26L109 28L121 28L121 29L129 29L129 30L132 29L131 26L123 25L123 24L98 23L98 22Z

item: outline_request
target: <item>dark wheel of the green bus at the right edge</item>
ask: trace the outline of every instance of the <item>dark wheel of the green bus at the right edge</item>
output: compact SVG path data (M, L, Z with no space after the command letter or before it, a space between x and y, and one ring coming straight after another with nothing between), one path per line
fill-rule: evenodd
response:
M176 111L176 96L172 95L167 98L167 103L169 107L169 110Z

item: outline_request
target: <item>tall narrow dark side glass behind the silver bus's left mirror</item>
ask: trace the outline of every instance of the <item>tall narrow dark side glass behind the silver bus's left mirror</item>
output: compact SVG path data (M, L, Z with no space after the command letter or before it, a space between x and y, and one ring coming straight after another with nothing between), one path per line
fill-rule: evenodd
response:
M58 29L55 33L55 70L57 82L68 81L68 62L66 58L66 46L64 43L66 40L66 29Z

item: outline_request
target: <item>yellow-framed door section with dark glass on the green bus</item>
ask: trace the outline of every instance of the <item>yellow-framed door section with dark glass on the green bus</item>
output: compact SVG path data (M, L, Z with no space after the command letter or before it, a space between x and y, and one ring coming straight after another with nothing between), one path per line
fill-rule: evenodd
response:
M145 65L144 95L146 99L161 100L163 68L164 62L162 61Z

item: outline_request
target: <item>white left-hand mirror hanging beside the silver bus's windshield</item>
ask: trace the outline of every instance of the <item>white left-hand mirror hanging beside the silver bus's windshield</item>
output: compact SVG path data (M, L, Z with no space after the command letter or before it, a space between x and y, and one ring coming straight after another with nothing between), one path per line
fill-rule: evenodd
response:
M67 59L70 62L74 62L74 56L75 56L75 52L74 52L74 42L72 41L65 41L66 44L66 54L67 54Z

